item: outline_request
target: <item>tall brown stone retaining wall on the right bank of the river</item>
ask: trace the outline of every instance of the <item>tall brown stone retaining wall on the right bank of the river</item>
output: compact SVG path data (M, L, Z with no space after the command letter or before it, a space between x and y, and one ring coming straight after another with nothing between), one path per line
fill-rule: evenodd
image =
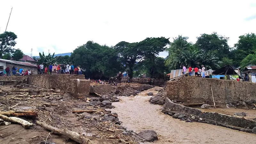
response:
M212 86L212 92L211 92ZM167 97L186 103L200 103L206 100L213 104L229 103L234 100L256 100L256 84L196 77L180 77L166 84Z

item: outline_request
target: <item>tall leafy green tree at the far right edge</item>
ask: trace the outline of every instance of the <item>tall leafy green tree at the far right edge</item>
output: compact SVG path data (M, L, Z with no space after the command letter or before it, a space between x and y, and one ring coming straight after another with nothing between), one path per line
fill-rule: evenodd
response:
M234 45L231 59L234 65L239 66L240 62L249 54L254 54L256 50L256 35L254 33L239 36L238 42Z

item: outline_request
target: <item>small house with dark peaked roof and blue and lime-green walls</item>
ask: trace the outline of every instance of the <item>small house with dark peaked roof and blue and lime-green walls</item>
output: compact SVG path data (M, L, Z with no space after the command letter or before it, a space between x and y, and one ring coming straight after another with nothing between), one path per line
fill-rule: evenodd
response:
M230 65L226 65L217 70L214 70L212 73L212 78L217 79L236 80L238 77L239 75Z

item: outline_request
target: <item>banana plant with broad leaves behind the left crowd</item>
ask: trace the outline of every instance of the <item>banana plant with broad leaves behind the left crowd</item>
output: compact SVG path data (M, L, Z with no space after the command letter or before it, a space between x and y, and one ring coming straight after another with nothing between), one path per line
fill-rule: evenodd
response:
M56 58L54 57L54 53L51 56L51 53L48 55L41 54L39 52L39 58L33 57L33 59L36 61L37 64L43 64L45 67L48 67L50 64L53 64L56 62Z

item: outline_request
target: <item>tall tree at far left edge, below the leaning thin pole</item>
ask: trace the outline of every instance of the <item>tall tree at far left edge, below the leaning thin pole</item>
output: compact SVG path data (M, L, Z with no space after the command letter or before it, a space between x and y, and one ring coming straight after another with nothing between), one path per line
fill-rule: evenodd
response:
M4 32L0 34L0 56L5 53L13 52L12 47L15 46L17 36L13 32Z

